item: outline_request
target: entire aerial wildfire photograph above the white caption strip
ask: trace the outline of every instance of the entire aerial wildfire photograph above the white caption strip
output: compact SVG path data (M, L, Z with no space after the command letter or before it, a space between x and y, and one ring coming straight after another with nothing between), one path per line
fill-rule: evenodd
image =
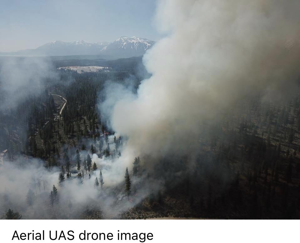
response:
M0 2L0 219L300 218L298 0Z

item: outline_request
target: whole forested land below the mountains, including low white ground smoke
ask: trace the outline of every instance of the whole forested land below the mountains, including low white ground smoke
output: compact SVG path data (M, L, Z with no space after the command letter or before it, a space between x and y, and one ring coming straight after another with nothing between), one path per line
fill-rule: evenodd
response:
M162 156L129 153L107 116L109 95L136 95L151 77L142 57L45 65L39 88L16 102L22 86L1 90L1 218L300 218L298 86L283 99L243 96L199 121L197 136L183 131L171 143L193 149ZM72 65L109 69L58 69Z

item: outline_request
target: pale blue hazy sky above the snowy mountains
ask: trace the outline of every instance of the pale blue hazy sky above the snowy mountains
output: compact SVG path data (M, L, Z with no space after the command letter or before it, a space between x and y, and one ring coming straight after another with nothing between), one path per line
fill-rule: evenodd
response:
M139 36L157 41L155 0L0 0L0 51L52 40L114 41Z

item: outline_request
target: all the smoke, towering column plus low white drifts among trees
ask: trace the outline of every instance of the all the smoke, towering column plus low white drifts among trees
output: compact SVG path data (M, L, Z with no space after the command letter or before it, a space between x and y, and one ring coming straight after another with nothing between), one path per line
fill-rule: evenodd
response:
M1 198L0 205L4 206L1 213L12 207L24 218L49 217L52 209L46 203L53 184L61 195L55 207L60 209L59 213L63 212L59 216L62 218L73 217L74 213L78 216L86 209L101 209L105 217L112 218L158 191L163 187L158 179L152 181L150 177L148 183L140 185L144 178L140 182L132 178L138 195L134 202L122 200L123 189L118 184L124 181L125 168L132 168L134 157L150 154L161 158L169 153L197 151L196 141L203 121L214 119L249 93L274 95L292 88L298 77L300 56L299 7L296 0L158 2L156 19L167 37L144 56L144 64L152 76L143 80L136 95L120 87L109 87L113 95L106 91L108 99L101 105L103 118L109 120L117 137L127 138L120 158L92 156L103 170L105 191L100 194L93 187L99 170L91 173L91 179L85 174L83 184L78 183L73 172L74 178L60 188L59 171L39 167L40 161L31 161L31 165L21 169L6 163L0 174L0 182L7 185L7 189L0 190L7 195ZM36 70L43 68L39 66ZM17 75L9 79L15 80L14 87L3 85L7 79L2 78L2 89L7 89L11 96L23 87L25 92L32 92L32 84L38 84L40 76L28 75L27 82L19 83L17 77L23 74L10 74L2 67L1 77ZM13 102L19 97L22 95ZM82 159L84 155L82 152ZM35 181L43 178L47 184L45 191L41 186L42 192L35 186L40 196L30 208L25 195L32 187L32 178Z

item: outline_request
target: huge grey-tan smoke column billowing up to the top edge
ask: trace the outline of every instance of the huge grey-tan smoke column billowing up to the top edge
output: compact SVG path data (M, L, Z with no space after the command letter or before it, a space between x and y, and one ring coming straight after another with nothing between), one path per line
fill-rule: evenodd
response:
M281 94L298 77L298 0L159 1L165 38L144 56L152 77L116 102L111 124L133 154L193 148L201 123L248 94Z

